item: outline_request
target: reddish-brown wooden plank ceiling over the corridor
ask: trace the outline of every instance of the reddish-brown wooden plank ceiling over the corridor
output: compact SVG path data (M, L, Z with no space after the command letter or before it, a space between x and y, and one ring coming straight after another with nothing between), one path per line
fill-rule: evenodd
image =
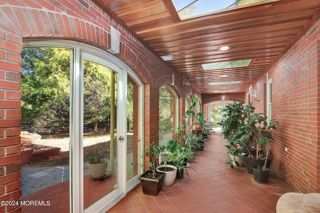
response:
M174 60L166 63L202 94L246 91L320 16L320 0L268 0L185 20L179 19L171 0L94 1L159 56L172 55ZM225 45L230 49L219 50ZM248 67L200 68L241 59L252 61ZM241 83L209 85L236 80Z

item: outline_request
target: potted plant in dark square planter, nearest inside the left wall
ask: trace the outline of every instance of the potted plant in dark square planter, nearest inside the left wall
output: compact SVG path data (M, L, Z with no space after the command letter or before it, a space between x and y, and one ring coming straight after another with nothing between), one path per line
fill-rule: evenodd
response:
M151 170L147 170L139 177L143 194L157 196L162 189L165 173L156 171L157 160L162 151L162 147L158 146L154 142L145 147L143 157L149 156L150 160L147 165Z

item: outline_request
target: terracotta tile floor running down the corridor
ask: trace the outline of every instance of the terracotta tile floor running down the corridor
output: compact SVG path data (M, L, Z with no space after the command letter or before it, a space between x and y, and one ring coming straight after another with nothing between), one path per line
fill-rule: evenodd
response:
M193 164L196 172L162 187L157 196L142 193L141 185L107 213L275 213L278 198L293 189L270 168L269 184L253 181L245 167L230 169L224 162L225 140L211 135Z

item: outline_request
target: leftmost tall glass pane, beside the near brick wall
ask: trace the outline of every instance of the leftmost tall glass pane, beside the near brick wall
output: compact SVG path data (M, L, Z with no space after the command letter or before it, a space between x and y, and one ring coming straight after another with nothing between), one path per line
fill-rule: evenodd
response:
M72 50L23 48L21 52L21 200L65 203L69 211L69 114ZM22 212L45 212L22 206Z

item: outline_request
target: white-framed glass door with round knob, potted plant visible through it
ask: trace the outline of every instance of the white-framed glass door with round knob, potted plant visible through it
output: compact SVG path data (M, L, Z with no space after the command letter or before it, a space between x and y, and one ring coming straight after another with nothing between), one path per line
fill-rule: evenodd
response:
M92 54L82 53L83 209L95 212L123 194L121 153L126 140L122 70ZM123 82L124 81L124 82Z

